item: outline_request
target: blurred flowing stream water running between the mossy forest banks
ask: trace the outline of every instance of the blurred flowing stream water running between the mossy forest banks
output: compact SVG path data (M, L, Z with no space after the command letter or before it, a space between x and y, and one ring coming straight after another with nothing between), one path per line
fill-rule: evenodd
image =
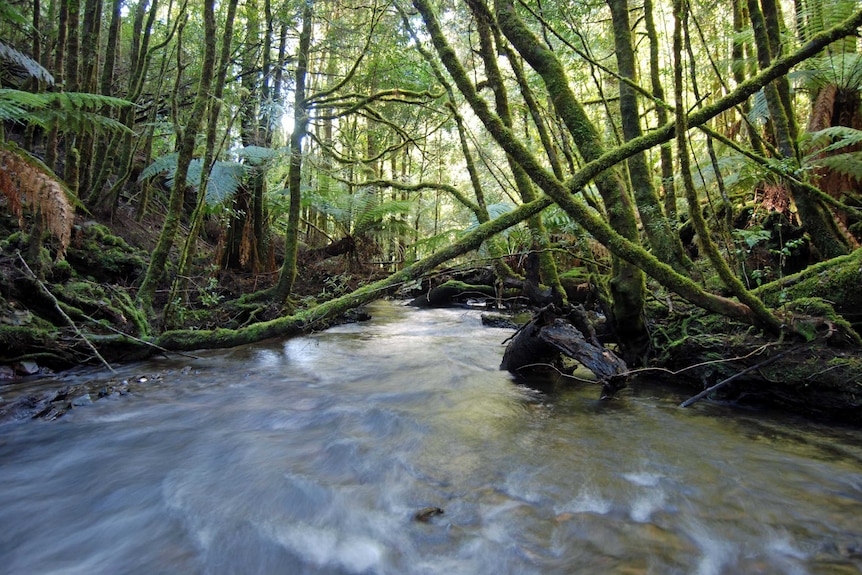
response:
M477 312L371 311L0 426L0 572L862 572L862 431L543 394Z

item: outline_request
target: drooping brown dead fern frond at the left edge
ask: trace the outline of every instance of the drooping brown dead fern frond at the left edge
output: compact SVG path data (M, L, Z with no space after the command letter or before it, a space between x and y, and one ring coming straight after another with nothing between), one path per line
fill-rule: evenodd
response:
M57 238L57 259L62 259L72 237L75 209L71 194L40 161L23 150L0 147L0 193L12 213L24 224L24 207L38 214Z

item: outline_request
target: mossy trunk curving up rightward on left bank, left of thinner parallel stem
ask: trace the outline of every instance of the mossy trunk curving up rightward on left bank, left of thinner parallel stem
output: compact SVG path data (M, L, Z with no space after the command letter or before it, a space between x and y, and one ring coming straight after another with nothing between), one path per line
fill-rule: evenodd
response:
M148 312L153 307L156 287L165 275L168 254L170 253L171 247L174 243L174 238L179 229L180 218L182 217L183 211L183 200L185 198L186 191L186 176L188 174L189 164L192 160L192 153L194 152L195 138L197 137L201 122L203 121L207 108L207 100L209 99L210 84L212 83L213 70L215 68L216 30L214 3L215 0L204 1L204 57L201 63L200 83L198 84L198 91L195 96L191 114L189 115L185 127L182 129L177 149L177 169L174 173L174 187L171 190L168 213L165 216L165 222L162 226L162 231L159 234L159 241L153 250L150 265L147 267L143 283L138 290L138 305Z

